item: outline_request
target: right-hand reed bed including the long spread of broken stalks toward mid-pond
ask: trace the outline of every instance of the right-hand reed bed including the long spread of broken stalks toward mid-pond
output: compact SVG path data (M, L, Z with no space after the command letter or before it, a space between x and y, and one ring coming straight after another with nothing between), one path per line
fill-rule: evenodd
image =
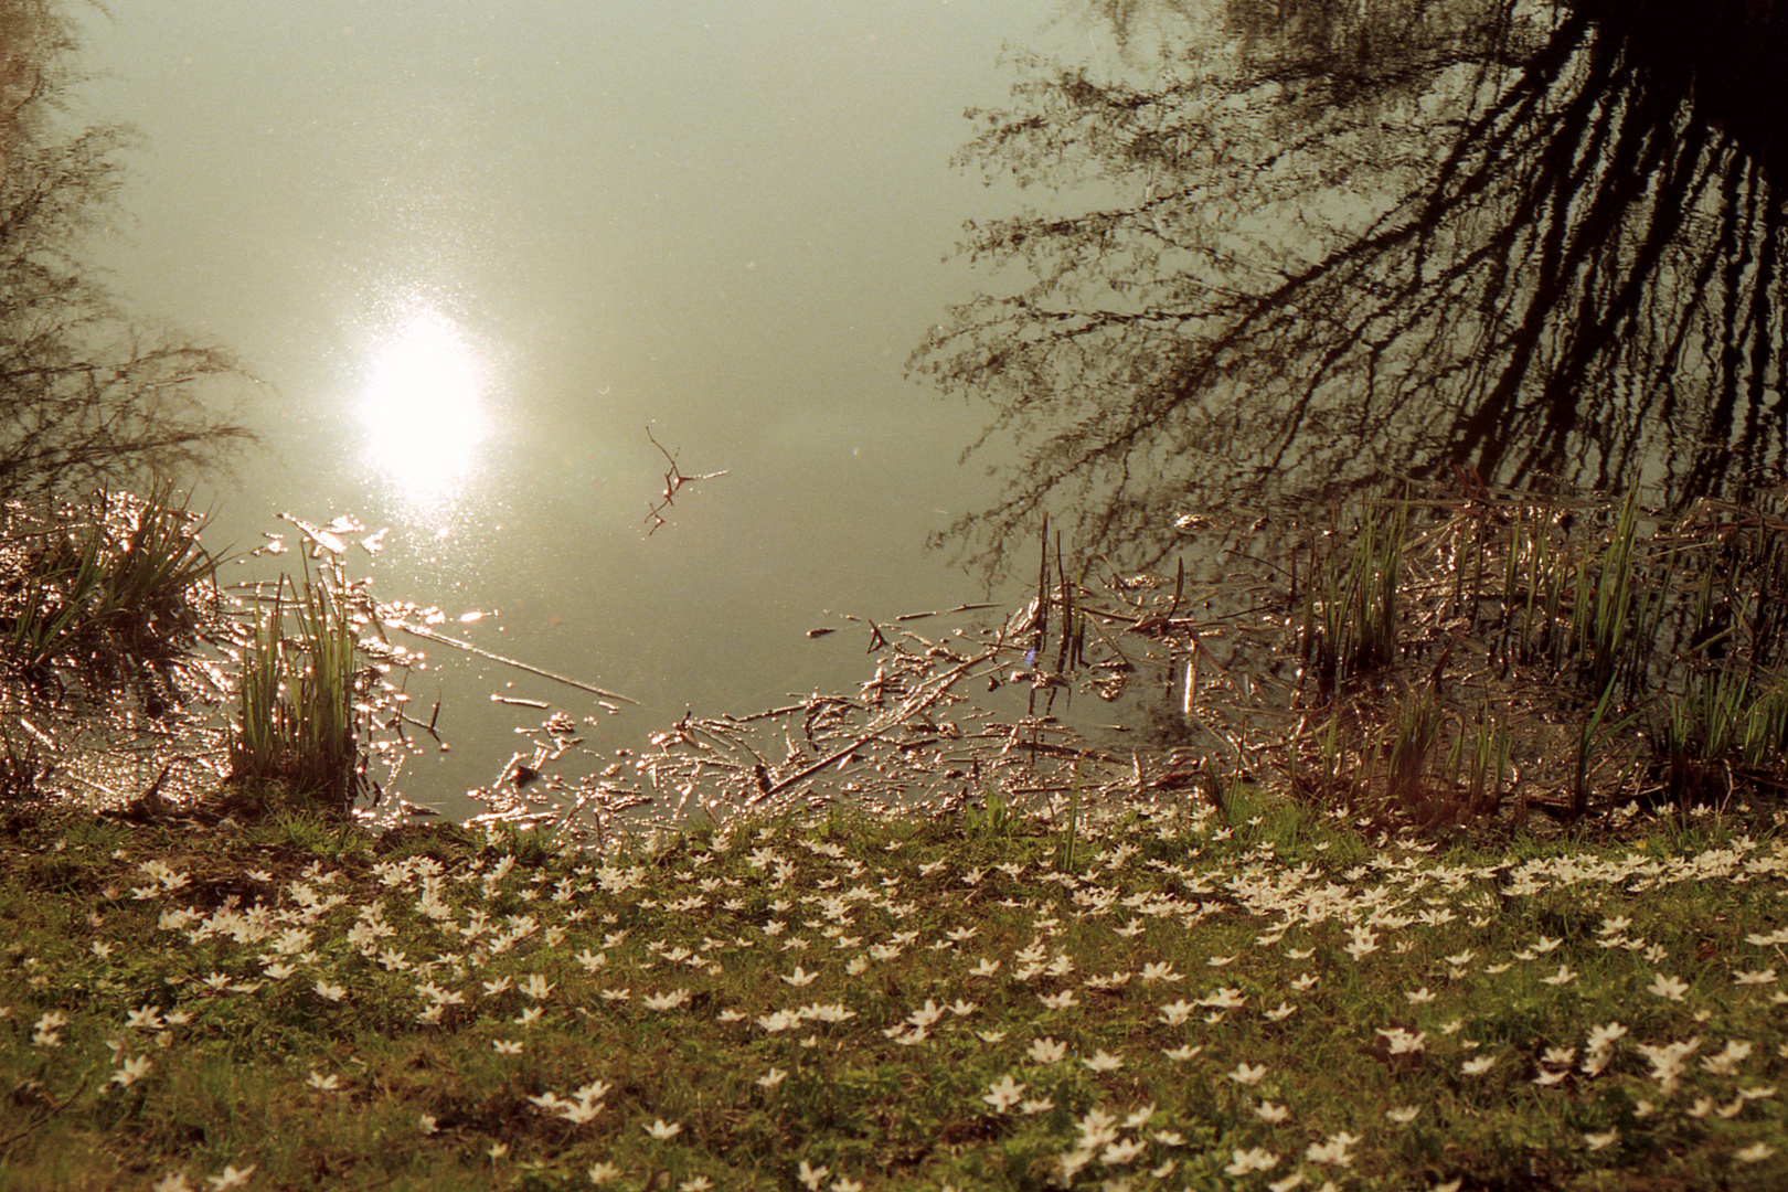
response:
M1781 513L1473 486L1364 499L1337 522L1277 550L1237 533L1171 575L1071 565L1046 525L1035 597L1003 625L867 622L864 699L696 736L685 718L642 760L649 790L611 776L601 795L932 799L996 833L1041 808L1071 840L1082 802L1223 811L1252 786L1425 829L1788 788ZM1076 695L1128 724L1089 724ZM742 738L765 724L776 742Z

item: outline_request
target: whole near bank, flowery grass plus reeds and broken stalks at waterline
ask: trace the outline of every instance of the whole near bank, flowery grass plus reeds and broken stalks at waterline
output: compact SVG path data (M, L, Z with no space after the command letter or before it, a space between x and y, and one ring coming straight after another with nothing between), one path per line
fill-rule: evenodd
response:
M583 776L554 709L383 836L434 611L102 513L0 541L0 1190L1788 1185L1774 513L1046 536L1003 624L815 629L856 693ZM64 783L93 706L154 763Z

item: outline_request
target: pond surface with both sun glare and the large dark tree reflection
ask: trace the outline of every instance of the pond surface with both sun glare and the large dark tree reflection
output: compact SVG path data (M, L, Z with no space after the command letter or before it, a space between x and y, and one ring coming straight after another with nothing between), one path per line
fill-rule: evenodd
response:
M127 306L259 381L207 545L283 534L232 565L272 577L300 522L354 518L350 572L470 649L411 674L452 751L399 783L465 815L549 711L590 718L592 767L685 711L864 684L869 715L880 634L812 629L991 599L973 634L1030 595L939 531L1025 574L1048 509L1098 579L1184 563L1169 617L1185 575L1228 583L1203 633L1289 608L1237 568L1311 558L1309 511L1386 481L1779 508L1774 141L1643 23L1495 11L1407 41L1393 9L1241 0L138 2L86 16L70 118L147 134L91 243ZM1085 625L1057 617L1055 670ZM1184 736L1182 654L1153 688ZM874 715L840 765L912 718ZM805 783L781 749L730 774Z

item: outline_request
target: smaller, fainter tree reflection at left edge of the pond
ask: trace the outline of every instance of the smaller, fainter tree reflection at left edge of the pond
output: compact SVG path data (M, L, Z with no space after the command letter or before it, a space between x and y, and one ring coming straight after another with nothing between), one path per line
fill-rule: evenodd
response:
M82 261L113 218L125 127L70 130L72 27L0 0L0 500L84 495L218 463L252 436L222 348L132 320Z

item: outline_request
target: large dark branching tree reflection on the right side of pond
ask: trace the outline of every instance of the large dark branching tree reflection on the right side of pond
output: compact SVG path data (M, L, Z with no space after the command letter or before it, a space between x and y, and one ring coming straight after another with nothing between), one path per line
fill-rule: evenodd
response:
M1084 547L1150 563L1187 513L1386 472L1772 490L1788 13L1092 9L1125 70L1028 59L1008 109L971 113L962 164L1055 193L967 225L964 252L1023 281L912 361L991 402L982 441L1026 452L944 534L978 563L1051 506Z

